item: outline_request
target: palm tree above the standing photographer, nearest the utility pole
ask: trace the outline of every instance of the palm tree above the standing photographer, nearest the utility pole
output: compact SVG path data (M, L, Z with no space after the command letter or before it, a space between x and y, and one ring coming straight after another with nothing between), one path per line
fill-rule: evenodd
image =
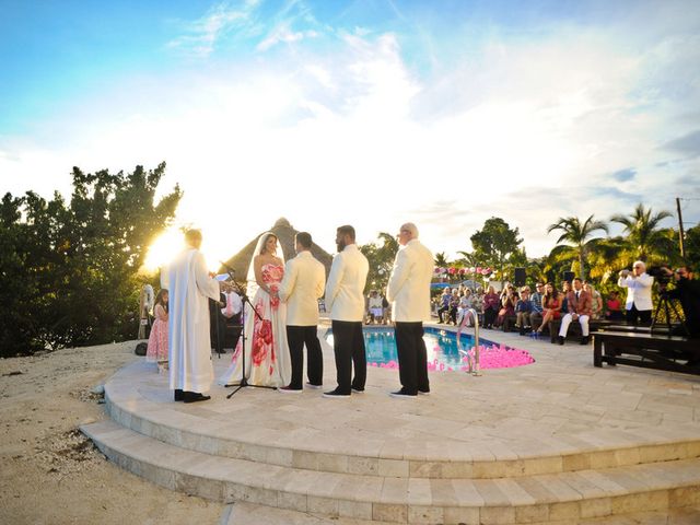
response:
M669 240L667 231L658 228L658 223L669 217L673 214L666 210L652 215L652 209L644 209L640 202L632 214L616 214L610 220L625 226L622 232L628 235L627 244L639 260L646 261L653 256L665 258L675 253L675 243Z

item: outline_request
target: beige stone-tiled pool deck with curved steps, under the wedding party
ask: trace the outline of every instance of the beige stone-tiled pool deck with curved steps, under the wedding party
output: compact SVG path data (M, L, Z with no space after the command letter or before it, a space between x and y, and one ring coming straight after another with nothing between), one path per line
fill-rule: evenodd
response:
M184 405L137 361L106 385L113 421L85 431L166 487L330 518L578 523L700 504L700 377L596 369L591 345L481 336L536 362L432 372L431 395L416 399L388 396L398 371L370 368L348 399L259 388L226 399L214 386L210 401ZM230 359L214 354L217 374Z

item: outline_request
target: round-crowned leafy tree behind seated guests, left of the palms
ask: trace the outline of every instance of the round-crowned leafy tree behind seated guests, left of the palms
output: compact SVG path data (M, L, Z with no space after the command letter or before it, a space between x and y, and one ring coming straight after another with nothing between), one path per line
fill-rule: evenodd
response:
M508 270L506 262L521 261L524 256L524 252L518 249L523 242L518 235L517 228L511 230L503 219L492 217L470 237L477 260L480 260L482 266L498 269L501 281L506 277L504 275L504 270Z

